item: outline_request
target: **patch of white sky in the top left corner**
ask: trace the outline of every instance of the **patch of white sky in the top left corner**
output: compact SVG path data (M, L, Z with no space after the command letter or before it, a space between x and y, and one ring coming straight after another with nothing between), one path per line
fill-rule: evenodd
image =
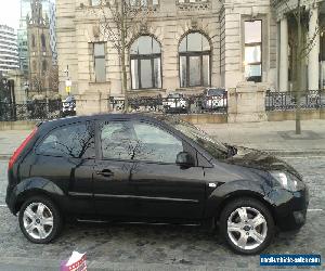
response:
M20 26L20 0L0 0L0 24L5 24L15 29Z

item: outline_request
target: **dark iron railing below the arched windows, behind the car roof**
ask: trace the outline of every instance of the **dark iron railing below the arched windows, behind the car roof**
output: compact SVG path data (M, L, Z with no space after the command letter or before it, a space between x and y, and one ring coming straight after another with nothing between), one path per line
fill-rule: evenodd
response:
M125 108L123 99L112 96L108 103L114 112L121 112ZM226 93L213 96L136 96L129 99L128 104L131 112L159 112L164 114L227 113Z

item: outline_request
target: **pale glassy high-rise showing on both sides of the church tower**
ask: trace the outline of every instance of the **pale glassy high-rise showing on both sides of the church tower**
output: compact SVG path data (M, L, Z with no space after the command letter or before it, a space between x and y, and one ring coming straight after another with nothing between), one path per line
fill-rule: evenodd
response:
M21 20L20 29L17 30L18 51L20 51L20 67L25 77L29 73L29 52L27 40L27 16L31 16L32 0L21 0ZM53 0L41 0L42 15L49 18L49 28L51 35L51 49L53 63L56 63L56 36L55 36L55 4Z

